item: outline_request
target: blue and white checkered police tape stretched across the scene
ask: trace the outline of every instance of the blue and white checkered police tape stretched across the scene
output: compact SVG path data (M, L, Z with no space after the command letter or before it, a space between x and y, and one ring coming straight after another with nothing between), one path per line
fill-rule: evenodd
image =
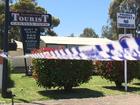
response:
M79 46L14 57L1 53L0 56L7 59L140 60L140 38L125 39L121 42L115 41L104 45Z

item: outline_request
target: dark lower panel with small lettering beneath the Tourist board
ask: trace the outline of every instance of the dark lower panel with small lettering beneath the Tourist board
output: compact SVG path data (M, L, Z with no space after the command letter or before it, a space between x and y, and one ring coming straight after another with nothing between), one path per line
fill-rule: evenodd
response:
M39 27L21 27L22 42L25 53L31 53L40 45L40 29Z

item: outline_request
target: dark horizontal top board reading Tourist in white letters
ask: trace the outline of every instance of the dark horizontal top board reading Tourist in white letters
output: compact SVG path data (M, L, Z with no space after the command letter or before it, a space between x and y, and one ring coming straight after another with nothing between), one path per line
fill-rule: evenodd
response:
M10 13L10 25L12 26L39 26L51 27L50 14Z

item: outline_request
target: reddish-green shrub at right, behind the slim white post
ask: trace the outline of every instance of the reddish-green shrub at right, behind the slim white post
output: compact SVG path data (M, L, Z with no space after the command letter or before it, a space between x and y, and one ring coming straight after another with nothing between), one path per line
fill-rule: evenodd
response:
M135 77L137 64L134 61L127 61L127 81L131 82ZM115 82L117 87L121 87L124 82L124 62L123 61L102 61L96 62L96 72L103 78Z

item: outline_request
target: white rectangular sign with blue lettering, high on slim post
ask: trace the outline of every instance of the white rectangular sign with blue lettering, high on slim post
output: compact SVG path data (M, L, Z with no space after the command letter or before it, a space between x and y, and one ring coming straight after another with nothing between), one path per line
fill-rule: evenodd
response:
M135 14L117 13L117 27L118 28L135 28Z

